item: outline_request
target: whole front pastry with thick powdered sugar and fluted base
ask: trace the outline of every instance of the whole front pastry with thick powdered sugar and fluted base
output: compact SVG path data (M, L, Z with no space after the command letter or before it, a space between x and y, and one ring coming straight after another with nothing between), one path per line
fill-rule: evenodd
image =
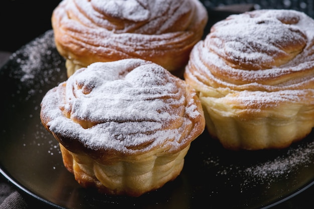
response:
M41 107L76 180L115 195L139 196L175 179L205 129L195 90L140 59L79 69Z

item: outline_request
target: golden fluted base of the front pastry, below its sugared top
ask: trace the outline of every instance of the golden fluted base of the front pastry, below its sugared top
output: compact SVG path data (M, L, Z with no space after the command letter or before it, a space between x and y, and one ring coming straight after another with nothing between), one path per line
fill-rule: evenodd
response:
M101 193L139 196L174 180L182 171L190 144L177 153L125 156L101 162L86 154L73 153L60 144L65 167L85 188Z

